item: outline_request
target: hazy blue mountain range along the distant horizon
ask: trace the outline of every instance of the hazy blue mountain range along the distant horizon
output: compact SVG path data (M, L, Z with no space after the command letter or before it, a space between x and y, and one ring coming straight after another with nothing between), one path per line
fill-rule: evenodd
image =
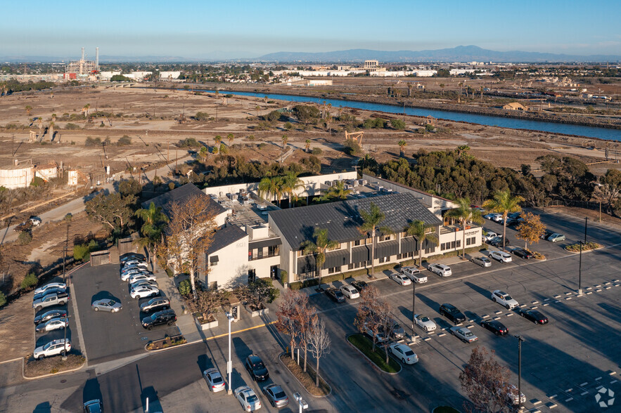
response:
M0 56L1 62L68 62L78 56ZM89 59L92 59L89 56ZM494 62L494 63L558 63L558 62L620 62L621 55L568 55L527 51L492 51L478 46L457 46L423 51L377 51L354 48L329 52L277 52L255 57L250 52L214 51L193 58L183 56L122 56L101 55L101 63L181 63L181 62L278 62L278 63L360 63L364 60L379 60L382 63L415 62Z

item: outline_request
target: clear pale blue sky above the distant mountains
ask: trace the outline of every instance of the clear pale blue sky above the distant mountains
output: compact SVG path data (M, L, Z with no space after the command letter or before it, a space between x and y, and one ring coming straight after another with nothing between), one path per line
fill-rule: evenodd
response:
M255 57L476 45L621 54L621 1L6 1L0 55ZM6 18L15 16L15 18Z

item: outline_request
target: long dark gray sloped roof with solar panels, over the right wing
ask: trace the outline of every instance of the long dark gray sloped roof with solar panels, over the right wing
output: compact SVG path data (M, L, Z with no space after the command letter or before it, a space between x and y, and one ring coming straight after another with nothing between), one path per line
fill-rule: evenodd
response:
M428 225L442 225L437 216L409 193L269 211L269 216L291 247L296 249L305 240L313 239L315 228L327 228L328 238L338 242L362 238L363 235L358 230L362 218L358 211L370 211L371 202L385 214L380 226L386 226L395 232L401 232L409 222L416 219Z

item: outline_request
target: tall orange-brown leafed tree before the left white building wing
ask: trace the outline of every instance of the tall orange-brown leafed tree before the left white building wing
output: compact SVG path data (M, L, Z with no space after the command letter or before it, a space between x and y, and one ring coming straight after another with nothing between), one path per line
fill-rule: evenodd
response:
M183 204L178 202L172 204L171 216L165 242L160 245L158 255L168 263L172 263L175 273L188 272L196 300L199 258L212 243L216 228L215 214L210 199L198 196L188 199Z

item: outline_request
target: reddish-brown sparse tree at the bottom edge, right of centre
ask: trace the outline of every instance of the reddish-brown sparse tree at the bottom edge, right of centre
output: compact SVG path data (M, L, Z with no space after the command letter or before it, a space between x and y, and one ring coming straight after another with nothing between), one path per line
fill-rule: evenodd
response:
M511 373L494 359L494 350L477 346L473 348L468 364L459 374L461 388L472 405L464 403L466 412L510 412L509 380ZM520 397L520 395L518 395Z

